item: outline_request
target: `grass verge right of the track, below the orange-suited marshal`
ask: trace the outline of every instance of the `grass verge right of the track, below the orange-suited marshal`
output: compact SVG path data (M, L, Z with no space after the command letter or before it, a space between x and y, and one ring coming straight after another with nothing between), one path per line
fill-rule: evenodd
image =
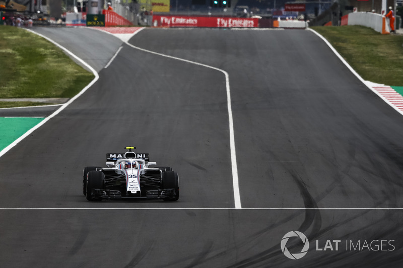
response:
M364 80L403 85L403 36L382 35L363 26L311 28L326 38Z

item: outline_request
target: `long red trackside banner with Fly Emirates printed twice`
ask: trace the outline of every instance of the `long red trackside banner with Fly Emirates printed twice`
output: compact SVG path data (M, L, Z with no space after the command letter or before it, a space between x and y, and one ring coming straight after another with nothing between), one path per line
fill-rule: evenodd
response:
M153 26L162 27L221 27L255 28L259 19L224 17L153 16Z

